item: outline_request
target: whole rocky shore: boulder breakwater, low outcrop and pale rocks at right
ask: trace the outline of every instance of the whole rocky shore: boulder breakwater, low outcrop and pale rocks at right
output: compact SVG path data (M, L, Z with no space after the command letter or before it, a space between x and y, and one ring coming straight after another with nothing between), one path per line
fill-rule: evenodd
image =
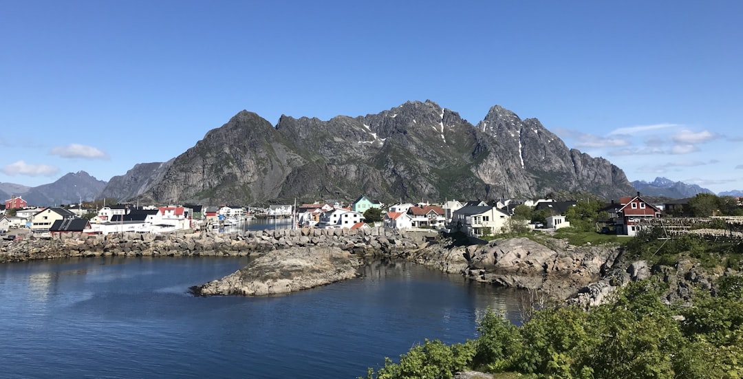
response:
M559 239L535 242L501 239L456 246L420 233L300 229L245 233L109 236L57 235L53 239L0 242L0 263L82 256L258 256L251 267L192 288L200 296L259 296L299 291L357 276L367 258L407 259L470 280L539 291L542 296L598 305L616 288L650 276L645 262L626 262L613 245L574 247ZM663 271L668 302L690 297L690 279L703 287L711 279L701 268L680 262Z

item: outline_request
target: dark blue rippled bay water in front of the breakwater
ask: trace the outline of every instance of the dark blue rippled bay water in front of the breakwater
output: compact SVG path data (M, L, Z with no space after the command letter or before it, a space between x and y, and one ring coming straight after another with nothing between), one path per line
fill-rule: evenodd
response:
M356 378L424 338L474 337L516 293L410 263L281 297L192 297L249 258L0 265L1 378Z

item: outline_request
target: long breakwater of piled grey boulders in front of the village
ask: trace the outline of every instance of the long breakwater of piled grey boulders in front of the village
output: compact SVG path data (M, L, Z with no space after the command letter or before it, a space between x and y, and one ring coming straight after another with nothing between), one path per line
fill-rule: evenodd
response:
M81 256L248 256L290 247L337 247L361 256L396 256L420 249L420 237L382 227L257 230L241 233L86 235L0 242L0 263Z

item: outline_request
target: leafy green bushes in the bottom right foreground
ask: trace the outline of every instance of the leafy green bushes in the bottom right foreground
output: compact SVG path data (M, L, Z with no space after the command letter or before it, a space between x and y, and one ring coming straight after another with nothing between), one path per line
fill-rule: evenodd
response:
M743 278L721 278L718 288L676 308L660 301L651 278L588 312L537 311L520 328L488 311L476 340L426 340L366 378L453 378L464 369L528 378L743 378Z

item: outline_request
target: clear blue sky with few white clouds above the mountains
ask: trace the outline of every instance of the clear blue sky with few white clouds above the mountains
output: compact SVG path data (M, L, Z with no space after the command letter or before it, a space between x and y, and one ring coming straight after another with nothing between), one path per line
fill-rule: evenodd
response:
M0 182L108 181L247 109L536 117L630 181L743 189L743 1L2 1Z

